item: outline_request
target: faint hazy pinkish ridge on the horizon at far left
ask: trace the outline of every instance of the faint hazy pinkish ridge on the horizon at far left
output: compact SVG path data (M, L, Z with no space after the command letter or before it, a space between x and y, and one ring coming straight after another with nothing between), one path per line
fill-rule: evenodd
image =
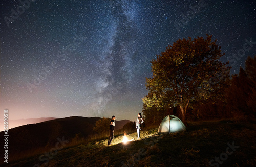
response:
M41 118L30 118L30 119L19 119L19 120L8 120L8 129L19 127L27 124L36 124L49 120L55 120L55 117L41 117ZM0 128L0 131L4 130L4 126Z

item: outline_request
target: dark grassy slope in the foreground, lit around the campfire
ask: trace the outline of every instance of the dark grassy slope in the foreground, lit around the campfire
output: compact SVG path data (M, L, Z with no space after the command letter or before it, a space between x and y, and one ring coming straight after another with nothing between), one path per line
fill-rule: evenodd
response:
M256 166L256 124L212 121L190 123L186 132L158 134L157 129L66 147L7 166ZM41 156L44 155L44 156ZM41 156L41 158L39 158ZM211 163L210 163L211 162Z

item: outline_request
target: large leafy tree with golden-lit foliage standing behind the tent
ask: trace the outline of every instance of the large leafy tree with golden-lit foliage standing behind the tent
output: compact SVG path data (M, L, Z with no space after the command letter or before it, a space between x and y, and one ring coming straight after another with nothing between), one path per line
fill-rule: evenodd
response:
M179 39L157 55L151 61L153 76L146 78L149 93L142 99L144 104L148 108L178 106L186 124L191 100L217 97L212 95L222 87L230 68L219 61L224 54L216 41L209 35L206 39Z

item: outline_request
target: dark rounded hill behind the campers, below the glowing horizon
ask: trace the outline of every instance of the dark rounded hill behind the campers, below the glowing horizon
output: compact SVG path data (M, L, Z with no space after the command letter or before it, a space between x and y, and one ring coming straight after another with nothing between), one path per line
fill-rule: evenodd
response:
M72 116L9 129L8 152L14 155L31 149L51 147L56 144L57 138L71 141L79 133L86 138L94 133L93 127L95 127L96 121L100 119L100 117ZM115 129L118 130L130 121L115 122ZM0 135L3 136L4 131L0 132ZM4 146L4 140L0 141L0 145Z

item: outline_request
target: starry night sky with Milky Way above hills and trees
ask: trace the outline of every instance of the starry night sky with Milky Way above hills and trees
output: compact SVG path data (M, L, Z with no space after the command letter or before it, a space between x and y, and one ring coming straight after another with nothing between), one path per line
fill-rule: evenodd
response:
M179 38L218 40L231 73L256 55L256 2L2 0L0 118L135 121L151 63Z

